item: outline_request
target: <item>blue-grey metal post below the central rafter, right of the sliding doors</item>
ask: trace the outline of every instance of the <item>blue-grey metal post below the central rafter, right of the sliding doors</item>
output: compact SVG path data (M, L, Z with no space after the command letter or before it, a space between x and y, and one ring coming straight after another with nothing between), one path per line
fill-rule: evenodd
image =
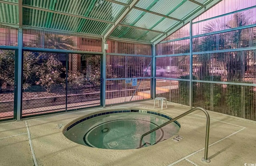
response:
M102 107L106 107L106 65L107 65L107 57L106 57L106 49L105 49L105 44L106 44L106 38L102 38Z

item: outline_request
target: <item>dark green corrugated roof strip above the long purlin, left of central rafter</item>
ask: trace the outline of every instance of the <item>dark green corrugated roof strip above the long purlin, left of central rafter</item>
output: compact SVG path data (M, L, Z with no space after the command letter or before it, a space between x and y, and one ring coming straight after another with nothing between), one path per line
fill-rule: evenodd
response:
M104 0L24 0L24 4L114 22L125 6Z

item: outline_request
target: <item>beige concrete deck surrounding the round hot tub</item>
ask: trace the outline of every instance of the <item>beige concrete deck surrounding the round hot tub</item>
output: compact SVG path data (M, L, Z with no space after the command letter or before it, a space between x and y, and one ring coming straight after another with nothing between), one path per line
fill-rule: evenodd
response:
M91 108L67 113L0 123L0 166L244 166L256 164L256 122L208 111L210 138L208 158L204 156L206 118L194 111L178 120L180 131L172 138L140 149L110 150L76 144L62 133L71 121L111 109L142 109L164 113L174 118L186 111L168 102L167 109L153 109L154 100ZM64 124L58 128L58 124ZM30 139L31 136L31 139ZM31 142L30 142L31 140ZM30 149L32 145L32 151Z

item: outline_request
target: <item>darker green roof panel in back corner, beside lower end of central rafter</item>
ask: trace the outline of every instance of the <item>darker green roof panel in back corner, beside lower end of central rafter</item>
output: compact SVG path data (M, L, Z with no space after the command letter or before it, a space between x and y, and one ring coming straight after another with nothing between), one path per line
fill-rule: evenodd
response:
M110 37L126 38L131 40L151 41L158 35L160 35L160 33L149 32L149 31L140 30L136 28L118 26L118 28L114 30L114 32L111 34Z

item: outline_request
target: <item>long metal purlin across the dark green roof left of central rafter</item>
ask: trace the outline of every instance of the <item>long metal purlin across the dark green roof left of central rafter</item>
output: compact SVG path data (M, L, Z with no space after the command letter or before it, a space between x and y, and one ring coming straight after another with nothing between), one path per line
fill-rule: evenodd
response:
M93 21L98 21L98 22L105 22L105 23L108 23L108 24L114 24L114 22L110 22L110 21L106 21L106 20L100 20L100 19L97 19L97 18L80 16L80 15L77 15L77 14L70 14L70 13L66 13L66 12L59 12L59 11L55 11L55 10L50 10L50 9L45 9L45 8L40 8L40 7L35 7L35 6L30 6L30 5L22 5L22 7L29 8L29 9L40 10L40 11L44 11L44 12L51 12L51 13L55 13L55 14L62 14L62 15L65 15L65 16L83 18L83 19L93 20Z

